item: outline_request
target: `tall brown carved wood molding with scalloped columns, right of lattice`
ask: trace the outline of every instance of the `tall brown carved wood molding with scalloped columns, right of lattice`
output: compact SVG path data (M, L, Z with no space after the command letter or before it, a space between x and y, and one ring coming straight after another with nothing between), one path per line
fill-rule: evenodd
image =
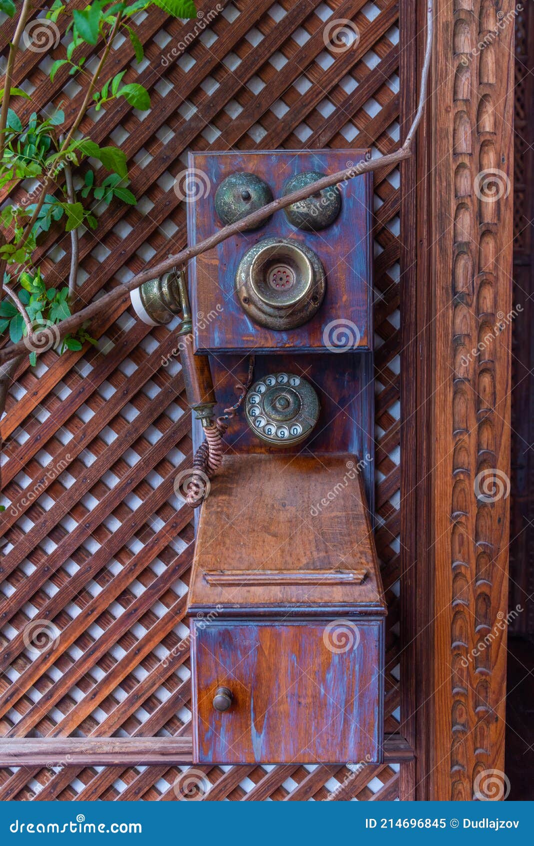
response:
M504 771L514 19L510 0L436 3L432 799L485 796Z

